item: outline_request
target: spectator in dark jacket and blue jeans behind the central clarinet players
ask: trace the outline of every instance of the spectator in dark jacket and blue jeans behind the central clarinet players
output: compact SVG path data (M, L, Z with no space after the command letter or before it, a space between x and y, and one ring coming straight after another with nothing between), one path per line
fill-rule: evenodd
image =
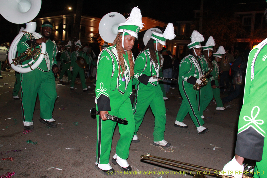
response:
M162 66L162 69L163 69L163 77L171 78L172 77L172 68L173 68L173 65L172 65L171 56L168 55L166 47L163 47L161 54L162 54L162 56L164 58L164 63L163 63L163 66ZM171 86L170 85L171 81L169 81L169 80L163 80L163 82L164 82L164 90L165 90L165 92L166 93L169 93L170 86Z

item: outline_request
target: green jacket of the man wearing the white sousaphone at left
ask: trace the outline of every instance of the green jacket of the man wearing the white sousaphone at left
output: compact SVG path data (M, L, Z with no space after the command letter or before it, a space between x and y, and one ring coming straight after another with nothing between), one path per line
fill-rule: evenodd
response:
M31 36L33 37L32 41L30 40ZM27 48L29 48L31 46L31 42L32 42L32 45L36 45L36 38L37 37L34 34L32 34L31 36L29 36L28 34L25 34L22 36L22 38L20 39L20 42L18 43L18 46L17 46L18 53L20 53L20 54L24 53L27 50ZM52 69L54 64L57 65L57 61L55 60L55 57L58 53L57 46L50 39L48 39L46 41L46 44L47 45L46 45L45 57L44 57L43 61L40 63L40 65L37 67L37 69L39 69L40 71L43 71L43 72L49 72ZM37 48L39 48L39 46ZM22 64L26 64L30 61L31 61L31 59L23 62Z

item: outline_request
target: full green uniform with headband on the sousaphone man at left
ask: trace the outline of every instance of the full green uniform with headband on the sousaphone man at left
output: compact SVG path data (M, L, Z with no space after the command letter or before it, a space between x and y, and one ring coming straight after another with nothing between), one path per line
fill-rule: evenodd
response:
M53 28L52 25L43 23L42 28L45 27ZM36 36L34 34L31 34L31 36L36 40ZM18 53L24 53L27 48L29 48L29 46L31 45L31 36L29 36L28 34L23 35L17 46ZM35 45L35 40L32 41L32 43L34 43L33 45ZM32 119L37 93L41 107L40 117L47 122L55 121L52 118L52 112L55 105L55 99L57 98L57 92L55 88L55 78L52 72L52 68L54 65L57 66L57 61L55 59L57 52L57 46L50 39L47 39L45 57L42 60L41 64L37 67L37 69L31 72L20 73L21 108L24 127L33 126ZM23 64L26 64L28 62L29 61L25 61L23 62ZM56 124L53 127L56 127Z

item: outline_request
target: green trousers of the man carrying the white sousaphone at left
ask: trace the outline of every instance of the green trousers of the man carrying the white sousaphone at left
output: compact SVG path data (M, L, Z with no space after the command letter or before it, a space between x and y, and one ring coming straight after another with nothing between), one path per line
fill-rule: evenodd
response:
M52 71L47 73L35 69L28 73L20 73L21 109L23 121L32 122L37 93L40 100L40 117L52 119L52 112L57 98L55 77Z

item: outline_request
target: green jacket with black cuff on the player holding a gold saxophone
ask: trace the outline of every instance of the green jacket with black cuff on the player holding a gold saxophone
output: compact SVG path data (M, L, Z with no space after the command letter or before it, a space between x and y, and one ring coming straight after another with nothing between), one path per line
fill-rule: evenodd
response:
M178 83L182 83L182 80L188 84L195 85L196 80L203 76L200 61L198 61L193 55L188 55L182 59L179 66L179 78ZM190 86L186 84L187 86ZM190 86L193 87L193 86Z

